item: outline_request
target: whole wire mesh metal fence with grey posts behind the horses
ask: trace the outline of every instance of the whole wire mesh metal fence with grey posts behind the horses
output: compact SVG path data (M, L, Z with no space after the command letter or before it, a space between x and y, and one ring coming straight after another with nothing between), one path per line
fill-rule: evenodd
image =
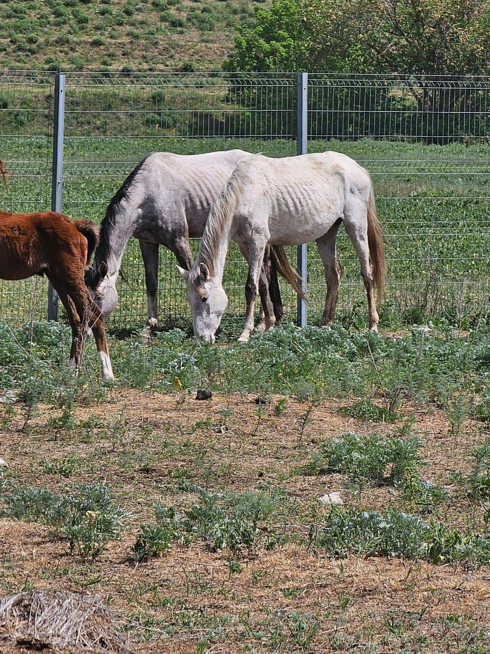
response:
M385 311L404 311L414 320L486 311L489 78L68 73L64 86L57 77L56 88L55 79L0 74L0 158L12 173L8 192L0 191L3 209L56 206L100 222L125 176L152 150L240 147L269 156L338 150L364 165L374 181L389 262ZM357 320L366 304L357 259L345 235L338 247L344 266L339 312ZM290 254L297 256L293 249ZM307 259L307 314L314 321L325 298L323 267L314 245L299 254L303 273ZM163 324L189 318L174 263L161 248ZM236 249L226 270L233 322L244 311L246 278ZM120 282L110 326L137 328L146 316L146 294L135 241L123 271L129 283ZM282 291L287 318L304 320L304 307L298 313L291 290ZM46 311L47 288L39 277L0 282L0 320L44 319Z

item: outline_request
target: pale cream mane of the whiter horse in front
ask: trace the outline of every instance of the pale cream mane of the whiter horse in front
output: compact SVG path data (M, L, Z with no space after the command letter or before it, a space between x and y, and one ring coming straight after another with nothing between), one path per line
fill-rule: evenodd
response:
M240 171L237 169L233 171L220 195L214 201L199 245L197 260L199 263L206 264L210 275L215 273L218 244L235 211L238 194L243 190L239 173Z

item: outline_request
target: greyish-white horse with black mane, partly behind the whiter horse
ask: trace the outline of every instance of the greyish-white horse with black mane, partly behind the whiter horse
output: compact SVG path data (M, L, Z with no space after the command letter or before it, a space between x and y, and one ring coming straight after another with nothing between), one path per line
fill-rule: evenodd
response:
M159 245L172 250L180 266L191 269L189 237L203 235L212 203L238 160L248 154L244 150L190 155L152 152L139 162L108 204L99 247L86 274L87 286L99 293L105 317L117 306L116 280L127 241L134 236L139 239L144 263L146 333L149 335L155 329ZM272 300L274 314L280 318L282 303L274 263L267 250L261 294L269 306Z

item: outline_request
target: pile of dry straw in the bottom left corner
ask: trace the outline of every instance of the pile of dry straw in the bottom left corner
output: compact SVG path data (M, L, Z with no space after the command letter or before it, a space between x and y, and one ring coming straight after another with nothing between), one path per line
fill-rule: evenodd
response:
M29 591L0 600L0 644L124 654L133 651L98 595Z

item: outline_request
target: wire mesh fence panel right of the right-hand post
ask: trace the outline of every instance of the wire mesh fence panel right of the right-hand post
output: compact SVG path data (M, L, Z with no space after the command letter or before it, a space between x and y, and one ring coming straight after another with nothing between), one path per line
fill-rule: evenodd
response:
M389 266L385 307L415 321L488 309L490 80L309 76L310 152L348 154L370 172ZM340 307L361 311L357 258L340 232ZM321 262L308 256L314 311Z

